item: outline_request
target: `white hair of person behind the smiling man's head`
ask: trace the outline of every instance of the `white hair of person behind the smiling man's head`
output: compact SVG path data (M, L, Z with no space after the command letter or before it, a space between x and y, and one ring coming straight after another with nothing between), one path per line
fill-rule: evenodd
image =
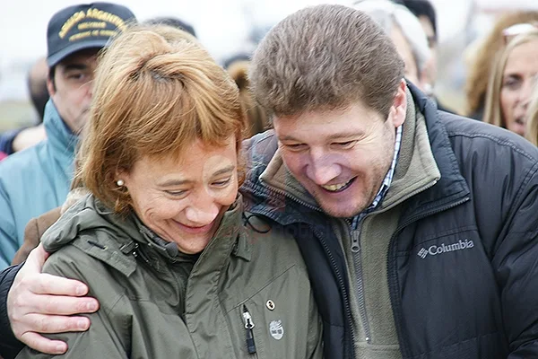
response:
M412 56L419 71L419 75L430 59L428 38L422 29L419 19L404 5L395 4L389 0L362 0L354 1L351 7L369 14L383 31L390 36L394 26L397 26L412 49Z

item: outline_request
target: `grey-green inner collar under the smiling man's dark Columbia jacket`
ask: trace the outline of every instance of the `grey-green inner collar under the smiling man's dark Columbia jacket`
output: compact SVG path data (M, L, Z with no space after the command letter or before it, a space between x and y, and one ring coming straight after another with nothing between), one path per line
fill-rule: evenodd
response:
M440 172L430 148L426 121L416 109L411 92L406 89L407 112L402 147L395 167L395 176L378 211L396 206L440 179ZM288 170L279 150L260 176L260 182L275 192L285 194L303 206L321 211L316 200Z

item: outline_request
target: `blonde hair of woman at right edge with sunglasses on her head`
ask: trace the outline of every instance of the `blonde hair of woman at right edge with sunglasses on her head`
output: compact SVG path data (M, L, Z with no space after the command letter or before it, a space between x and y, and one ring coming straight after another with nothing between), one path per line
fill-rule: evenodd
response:
M484 107L483 121L490 124L506 127L500 105L500 91L502 89L502 79L505 67L507 66L508 57L514 48L526 42L538 39L538 29L535 31L525 32L511 39L506 48L499 52L491 69L490 80L488 82L488 91L486 92L486 104Z

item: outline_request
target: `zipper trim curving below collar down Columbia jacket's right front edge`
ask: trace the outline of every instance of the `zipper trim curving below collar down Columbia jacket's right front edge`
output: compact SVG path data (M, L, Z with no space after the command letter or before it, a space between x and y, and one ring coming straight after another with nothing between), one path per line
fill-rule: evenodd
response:
M463 205L465 202L467 202L470 199L470 197L466 196L456 202L453 202L447 206L441 206L438 208L435 208L428 212L423 212L419 215L414 215L410 217L408 220L406 220L404 223L401 223L398 225L398 227L395 230L395 233L391 237L389 244L388 244L388 256L386 256L386 269L387 269L387 278L388 278L388 289L390 293L390 300L392 302L393 311L395 313L395 324L396 324L396 331L398 333L398 341L400 343L400 348L402 350L402 355L405 357L410 357L408 343L409 341L404 341L404 328L402 328L402 312L400 309L400 302L397 300L398 293L397 293L397 287L395 285L396 279L398 277L398 271L397 267L391 267L391 261L394 259L392 256L393 253L393 247L395 246L395 240L398 234L404 230L405 227L407 227L409 224L419 221L422 218L426 218L430 215L436 215L440 212L447 211L450 208L454 208L456 206ZM403 346L405 344L405 346Z

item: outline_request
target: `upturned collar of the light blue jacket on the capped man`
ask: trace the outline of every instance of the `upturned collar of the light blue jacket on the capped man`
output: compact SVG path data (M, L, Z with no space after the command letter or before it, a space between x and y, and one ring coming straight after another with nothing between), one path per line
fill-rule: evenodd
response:
M45 107L43 123L47 132L48 145L53 149L55 156L63 161L72 162L79 138L65 125L52 100L48 100Z

